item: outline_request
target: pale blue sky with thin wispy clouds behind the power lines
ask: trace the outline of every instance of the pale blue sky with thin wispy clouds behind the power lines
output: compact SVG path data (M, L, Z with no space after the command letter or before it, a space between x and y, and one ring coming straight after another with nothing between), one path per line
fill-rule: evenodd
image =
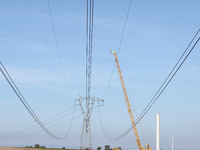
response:
M66 88L47 1L0 1L0 61L5 65L27 102L45 121L68 110L85 96L86 1L49 0ZM91 95L105 100L100 108L109 137L121 135L129 126L123 92L110 48L117 51L129 1L95 1ZM187 45L200 28L200 1L132 1L118 59L129 98L139 115L154 96ZM198 35L198 37L200 34ZM141 120L150 146L155 149L156 113L161 118L161 148L198 149L200 141L200 43L157 102ZM97 106L97 105L96 105ZM34 119L0 74L0 146L39 143L59 147L80 146L82 116L76 106L66 139L50 138L34 128ZM55 135L68 132L73 109L46 126ZM135 118L135 114L133 114ZM65 116L65 117L62 117ZM59 119L60 118L60 119ZM57 120L55 120L57 119ZM66 122L61 124L62 122ZM61 125L59 125L61 124ZM53 127L55 125L59 125ZM119 141L107 139L99 111L91 116L93 146L137 148L133 131ZM51 128L53 127L53 128ZM137 125L142 145L147 142ZM17 132L24 131L22 134ZM36 133L37 132L37 133ZM12 135L10 135L12 134ZM6 135L6 138L5 138Z

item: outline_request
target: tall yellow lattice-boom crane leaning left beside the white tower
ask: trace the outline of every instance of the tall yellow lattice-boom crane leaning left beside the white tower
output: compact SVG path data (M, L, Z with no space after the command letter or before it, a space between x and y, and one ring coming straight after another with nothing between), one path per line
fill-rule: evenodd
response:
M130 120L131 120L131 124L133 126L133 131L134 131L134 134L135 134L135 139L136 139L137 145L138 145L140 150L151 150L151 147L149 147L149 144L147 144L144 147L141 146L140 138L139 138L139 135L138 135L138 132L137 132L137 128L136 128L135 121L134 121L133 114L132 114L132 110L131 110L131 106L130 106L128 96L127 96L127 93L126 93L126 88L125 88L125 85L124 85L124 80L123 80L123 77L122 77L122 73L121 73L121 69L120 69L120 66L119 66L118 59L117 59L117 55L116 55L115 51L113 51L112 49L110 49L110 50L115 57L115 63L116 63L116 66L117 66L122 90L123 90L123 93L124 93L124 98L125 98L125 101L126 101L126 106L127 106L127 109L128 109L128 114L129 114L129 117L130 117Z

